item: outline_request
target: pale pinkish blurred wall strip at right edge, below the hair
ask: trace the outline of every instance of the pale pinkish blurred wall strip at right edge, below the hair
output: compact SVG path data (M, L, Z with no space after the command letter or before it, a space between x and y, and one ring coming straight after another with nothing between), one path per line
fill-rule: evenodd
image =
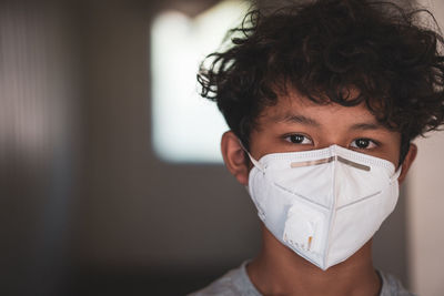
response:
M444 294L444 134L416 141L418 155L408 176L408 257L412 287L418 295Z

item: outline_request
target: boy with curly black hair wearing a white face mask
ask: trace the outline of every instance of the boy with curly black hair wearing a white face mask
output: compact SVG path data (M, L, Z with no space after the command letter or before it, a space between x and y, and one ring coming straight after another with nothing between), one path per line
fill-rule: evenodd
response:
M412 140L444 121L443 40L420 12L365 0L253 11L211 55L202 95L231 129L223 159L263 245L195 295L411 295L374 269L371 246Z

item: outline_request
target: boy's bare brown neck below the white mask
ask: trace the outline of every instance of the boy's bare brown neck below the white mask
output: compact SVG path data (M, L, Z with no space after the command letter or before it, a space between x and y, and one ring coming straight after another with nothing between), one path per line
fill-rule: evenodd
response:
M281 244L264 226L263 247L246 271L263 295L377 295L381 279L372 242L345 262L322 271Z

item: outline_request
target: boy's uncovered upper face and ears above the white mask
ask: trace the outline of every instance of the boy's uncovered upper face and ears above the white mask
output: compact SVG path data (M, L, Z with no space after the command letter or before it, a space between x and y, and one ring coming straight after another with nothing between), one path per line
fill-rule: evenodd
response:
M319 150L336 144L398 166L401 134L381 125L365 104L320 105L293 92L265 108L256 123L250 134L250 154L255 160L270 153ZM229 171L241 184L248 185L251 166L245 166L245 154L232 132L222 137L222 154ZM411 144L400 183L415 155L416 146Z

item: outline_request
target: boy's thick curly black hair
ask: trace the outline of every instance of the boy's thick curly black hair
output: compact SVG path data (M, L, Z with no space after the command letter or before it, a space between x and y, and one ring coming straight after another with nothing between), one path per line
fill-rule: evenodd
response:
M423 17L436 29L423 25ZM253 10L229 40L228 50L201 64L198 81L246 149L261 111L289 88L319 104L364 102L401 133L400 163L413 139L443 124L443 38L427 10L316 0L272 13ZM352 98L351 89L359 94Z

